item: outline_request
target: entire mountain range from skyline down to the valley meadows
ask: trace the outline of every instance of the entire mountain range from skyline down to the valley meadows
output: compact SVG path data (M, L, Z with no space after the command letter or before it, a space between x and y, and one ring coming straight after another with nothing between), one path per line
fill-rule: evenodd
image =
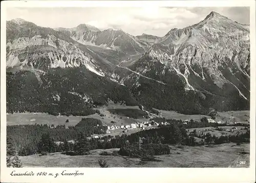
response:
M8 112L85 110L109 100L188 114L249 109L249 25L217 12L163 37L23 19L6 29Z

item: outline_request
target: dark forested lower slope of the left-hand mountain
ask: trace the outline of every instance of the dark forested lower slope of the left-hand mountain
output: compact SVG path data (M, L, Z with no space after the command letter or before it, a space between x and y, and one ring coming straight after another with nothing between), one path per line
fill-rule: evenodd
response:
M7 73L7 112L48 112L87 116L108 100L138 105L129 90L84 68L51 69L36 76L30 71Z

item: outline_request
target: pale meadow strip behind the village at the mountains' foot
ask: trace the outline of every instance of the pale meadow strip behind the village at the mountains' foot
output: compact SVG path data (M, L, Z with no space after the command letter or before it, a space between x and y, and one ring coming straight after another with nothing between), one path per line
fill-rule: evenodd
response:
M136 122L141 121L148 121L148 119L142 118L142 115L140 112L140 109L138 106L126 106L126 105L120 105L120 104L110 104L109 106L103 106L99 109L100 112L105 115L104 117L100 117L97 113L94 115L89 115L86 117L81 116L60 116L56 117L53 115L48 115L46 113L14 113L14 114L8 114L7 115L7 125L33 125L35 123L37 124L47 124L47 125L66 125L66 126L74 126L79 121L81 121L82 118L95 118L98 120L101 120L103 125L113 125L111 121L115 121L115 125L129 125ZM113 114L111 111L113 110L133 110L133 113L137 113L138 118L127 118L125 114L123 113L115 113ZM205 115L183 115L182 113L178 113L175 111L166 111L166 110L159 110L161 112L161 116L166 119L177 119L177 120L191 120L194 121L200 121L203 117L206 117L207 119L211 118L209 116ZM243 110L243 111L227 111L227 112L218 112L218 116L215 121L236 121L237 123L249 123L250 119L250 111L249 110ZM231 118L233 118L231 120ZM66 120L69 120L69 123L65 123ZM246 121L247 120L247 121Z

